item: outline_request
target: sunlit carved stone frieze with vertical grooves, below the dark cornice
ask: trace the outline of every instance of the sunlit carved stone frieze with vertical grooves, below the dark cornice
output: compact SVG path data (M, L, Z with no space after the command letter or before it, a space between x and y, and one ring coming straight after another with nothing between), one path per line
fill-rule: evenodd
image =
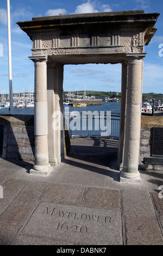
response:
M112 28L112 29L111 29ZM59 55L77 54L74 48L78 48L79 54L89 54L92 50L100 54L113 53L142 53L145 45L145 26L120 26L115 31L115 26L109 27L109 32L97 31L96 33L88 32L88 29L76 29L63 33L59 30L51 29L50 31L31 32L30 36L33 41L33 56L40 55ZM117 47L115 50L112 47ZM87 50L86 50L87 48ZM65 51L66 49L66 51ZM69 49L69 50L68 50Z

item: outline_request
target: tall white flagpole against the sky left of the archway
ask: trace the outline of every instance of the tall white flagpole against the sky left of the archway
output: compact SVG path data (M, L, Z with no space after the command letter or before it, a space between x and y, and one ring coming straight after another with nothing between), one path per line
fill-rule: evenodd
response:
M8 53L9 53L9 92L10 92L10 114L13 111L13 94L12 94L12 68L11 68L11 29L10 29L10 0L7 0L8 7Z

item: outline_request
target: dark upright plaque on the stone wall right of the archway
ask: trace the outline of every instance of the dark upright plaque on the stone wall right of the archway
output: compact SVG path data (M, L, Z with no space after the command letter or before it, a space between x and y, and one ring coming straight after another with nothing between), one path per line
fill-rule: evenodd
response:
M163 156L163 128L153 128L152 156Z

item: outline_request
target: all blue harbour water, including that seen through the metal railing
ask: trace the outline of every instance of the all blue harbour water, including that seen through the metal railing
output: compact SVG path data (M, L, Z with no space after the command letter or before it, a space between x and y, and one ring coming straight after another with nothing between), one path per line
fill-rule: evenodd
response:
M75 137L75 136L87 136L87 137L91 137L91 136L102 136L102 132L106 129L106 127L108 127L106 125L106 118L104 118L104 123L102 125L102 121L100 123L99 121L99 129L96 130L96 125L95 125L95 117L92 116L93 120L92 120L92 129L89 129L89 120L87 119L86 121L86 128L83 129L82 126L82 113L81 112L98 112L98 113L104 113L106 115L107 112L111 112L111 137L112 138L118 138L119 136L119 128L120 128L120 110L121 110L121 103L120 102L102 102L102 105L87 105L86 107L73 107L73 106L68 106L68 105L64 105L64 109L65 112L68 112L68 118L66 117L66 123L67 123L67 127L69 130L69 133L71 135L71 137ZM70 122L71 122L71 112L76 111L76 112L80 112L80 121L81 123L78 123L78 118L74 121L76 121L77 123L74 124L74 128L73 131L70 128ZM7 107L2 107L0 109L0 115L2 114L9 114L9 108ZM28 107L28 108L14 108L14 114L26 114L26 115L33 115L34 114L34 107ZM78 127L78 125L80 127ZM104 126L104 128L102 128ZM107 130L108 131L108 130ZM105 133L104 133L105 134ZM108 133L107 133L108 134ZM105 136L108 137L108 136Z

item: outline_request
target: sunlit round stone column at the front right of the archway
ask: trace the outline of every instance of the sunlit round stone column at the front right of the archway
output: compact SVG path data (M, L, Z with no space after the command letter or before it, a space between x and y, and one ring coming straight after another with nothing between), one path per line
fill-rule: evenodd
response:
M127 54L128 89L123 169L120 181L139 182L142 62L145 54Z

